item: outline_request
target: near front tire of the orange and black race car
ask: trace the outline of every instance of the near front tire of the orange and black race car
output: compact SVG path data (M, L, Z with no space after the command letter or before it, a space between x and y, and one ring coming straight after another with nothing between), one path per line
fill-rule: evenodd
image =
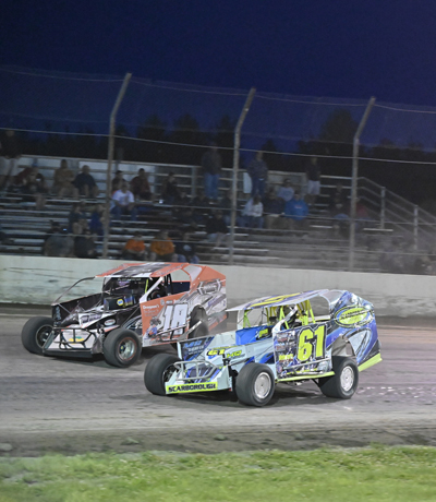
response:
M102 344L106 361L118 368L129 368L141 356L141 339L134 331L118 327L111 331Z

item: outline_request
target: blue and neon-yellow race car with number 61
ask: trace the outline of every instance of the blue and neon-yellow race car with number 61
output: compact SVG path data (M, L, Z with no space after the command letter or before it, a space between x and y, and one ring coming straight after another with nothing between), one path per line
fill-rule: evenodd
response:
M159 354L144 383L157 395L235 391L265 406L276 383L314 380L329 397L349 399L359 372L382 361L373 304L344 290L259 298L229 309L237 330L178 340L178 356Z

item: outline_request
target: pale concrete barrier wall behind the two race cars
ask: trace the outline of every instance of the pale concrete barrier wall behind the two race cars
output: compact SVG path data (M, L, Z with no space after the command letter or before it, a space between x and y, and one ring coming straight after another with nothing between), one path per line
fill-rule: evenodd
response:
M0 255L0 302L50 304L83 277L118 266L114 260ZM376 314L436 315L436 276L370 274L293 268L217 265L227 276L229 304L310 289L348 289L374 303ZM95 292L83 283L74 297Z

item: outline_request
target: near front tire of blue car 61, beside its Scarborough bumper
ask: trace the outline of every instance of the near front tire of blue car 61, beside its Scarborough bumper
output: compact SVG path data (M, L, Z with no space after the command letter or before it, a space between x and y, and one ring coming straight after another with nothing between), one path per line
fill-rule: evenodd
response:
M237 396L245 405L267 405L272 397L274 390L274 373L267 364L250 362L242 368L237 376Z

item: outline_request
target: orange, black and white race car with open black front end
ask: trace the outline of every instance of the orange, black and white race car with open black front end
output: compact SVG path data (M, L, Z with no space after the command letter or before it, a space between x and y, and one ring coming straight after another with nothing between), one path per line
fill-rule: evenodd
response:
M102 278L100 292L62 301L83 280ZM129 367L142 347L207 335L225 319L226 276L189 263L128 263L75 283L52 303L51 318L32 318L22 343L34 354L93 357Z

